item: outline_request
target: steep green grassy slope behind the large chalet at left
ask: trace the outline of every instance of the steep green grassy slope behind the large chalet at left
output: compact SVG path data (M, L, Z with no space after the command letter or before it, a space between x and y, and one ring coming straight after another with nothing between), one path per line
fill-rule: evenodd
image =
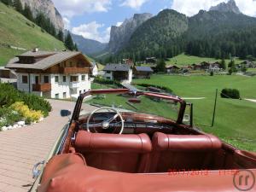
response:
M65 49L64 44L52 37L41 28L27 20L23 15L0 3L0 65L5 65L10 58L26 50L16 50L15 47L54 50Z

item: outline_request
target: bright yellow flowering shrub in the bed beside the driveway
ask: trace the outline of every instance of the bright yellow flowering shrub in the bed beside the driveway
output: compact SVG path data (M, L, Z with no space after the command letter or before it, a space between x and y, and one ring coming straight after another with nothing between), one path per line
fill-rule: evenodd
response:
M41 111L29 109L24 102L15 102L10 106L10 108L20 113L20 115L25 118L27 124L38 121L43 117L43 113Z

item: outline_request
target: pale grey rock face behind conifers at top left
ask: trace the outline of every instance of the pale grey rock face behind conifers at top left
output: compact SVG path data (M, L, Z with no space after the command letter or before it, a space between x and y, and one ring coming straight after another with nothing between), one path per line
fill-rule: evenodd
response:
M23 7L25 4L30 6L34 17L38 15L39 12L43 12L44 15L49 17L49 20L51 20L56 29L64 29L64 22L61 14L55 8L55 5L51 0L20 0L20 2L22 3Z

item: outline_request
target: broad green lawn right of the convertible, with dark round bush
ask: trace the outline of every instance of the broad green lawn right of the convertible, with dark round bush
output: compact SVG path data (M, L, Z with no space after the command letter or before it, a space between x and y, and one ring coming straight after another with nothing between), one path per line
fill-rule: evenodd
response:
M256 78L242 76L167 76L154 75L151 79L138 79L136 83L165 85L178 96L206 97L190 100L195 106L195 125L213 133L239 148L256 151L256 103L222 99L218 93L216 121L212 123L215 90L236 88L242 98L256 99Z

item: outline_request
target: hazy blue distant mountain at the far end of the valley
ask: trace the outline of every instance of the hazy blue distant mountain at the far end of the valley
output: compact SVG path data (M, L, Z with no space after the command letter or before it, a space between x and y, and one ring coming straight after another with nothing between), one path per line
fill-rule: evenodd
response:
M96 40L84 38L80 35L75 35L73 33L71 33L71 36L73 38L74 43L78 45L79 50L83 52L85 55L93 55L102 52L102 50L106 49L108 45L102 44L101 42L98 42Z

